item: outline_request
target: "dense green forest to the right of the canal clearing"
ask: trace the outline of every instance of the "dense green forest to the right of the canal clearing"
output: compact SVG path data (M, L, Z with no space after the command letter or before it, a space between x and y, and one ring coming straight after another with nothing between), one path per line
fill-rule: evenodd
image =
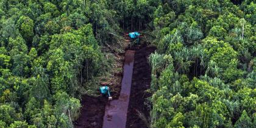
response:
M158 5L151 127L256 127L256 4L235 4Z

